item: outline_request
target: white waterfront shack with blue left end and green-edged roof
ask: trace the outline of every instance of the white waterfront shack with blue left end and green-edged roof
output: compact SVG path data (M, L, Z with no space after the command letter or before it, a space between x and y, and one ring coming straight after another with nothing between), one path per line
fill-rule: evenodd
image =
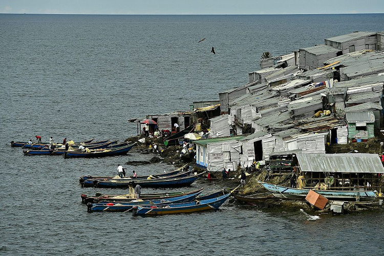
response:
M215 172L222 168L234 169L240 162L244 135L193 141L196 144L196 165Z

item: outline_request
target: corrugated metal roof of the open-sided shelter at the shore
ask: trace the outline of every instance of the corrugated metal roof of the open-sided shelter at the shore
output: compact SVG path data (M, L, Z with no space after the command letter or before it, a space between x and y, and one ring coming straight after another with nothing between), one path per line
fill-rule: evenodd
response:
M377 154L297 153L296 157L302 172L384 173Z

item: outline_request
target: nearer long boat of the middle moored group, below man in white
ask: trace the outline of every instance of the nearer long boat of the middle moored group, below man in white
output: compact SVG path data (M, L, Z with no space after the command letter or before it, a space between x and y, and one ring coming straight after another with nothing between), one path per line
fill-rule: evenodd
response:
M189 186L194 183L198 178L202 177L206 173L200 173L192 176L181 177L181 178L173 178L173 179L152 179L152 180L138 180L132 179L130 181L114 181L100 180L96 183L96 187L104 187L104 188L129 188L135 187L136 185L140 185L141 187L154 187L154 188L167 188L167 187L183 187Z

